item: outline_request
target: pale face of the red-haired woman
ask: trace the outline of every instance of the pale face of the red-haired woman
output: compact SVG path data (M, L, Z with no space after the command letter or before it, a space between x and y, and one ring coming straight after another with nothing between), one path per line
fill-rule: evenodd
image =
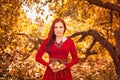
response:
M55 23L54 34L56 35L56 37L63 36L64 30L65 29L62 22Z

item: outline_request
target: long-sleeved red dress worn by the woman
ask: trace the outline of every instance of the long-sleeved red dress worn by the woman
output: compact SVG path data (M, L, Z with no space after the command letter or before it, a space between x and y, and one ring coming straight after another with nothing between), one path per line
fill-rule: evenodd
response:
M73 40L71 38L67 38L67 40L63 42L61 47L57 47L55 44L53 44L50 48L50 59L56 58L61 60L67 60L69 52L72 56L72 60L65 64L66 69L57 73L53 73L53 71L48 66L50 62L46 62L42 59L42 55L46 51L45 46L46 40L43 41L41 47L38 50L38 53L36 54L36 60L41 64L47 66L43 80L73 80L70 67L78 62L78 57Z

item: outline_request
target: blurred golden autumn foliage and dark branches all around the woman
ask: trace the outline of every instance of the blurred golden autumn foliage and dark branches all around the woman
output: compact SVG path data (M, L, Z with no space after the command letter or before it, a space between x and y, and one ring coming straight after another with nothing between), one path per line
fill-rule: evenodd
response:
M0 80L42 80L35 54L57 17L76 45L74 80L119 80L120 0L0 0Z

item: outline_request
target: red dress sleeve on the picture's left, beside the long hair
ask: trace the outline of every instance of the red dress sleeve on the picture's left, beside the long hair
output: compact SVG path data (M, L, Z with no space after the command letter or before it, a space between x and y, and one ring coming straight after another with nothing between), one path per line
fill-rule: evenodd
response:
M47 63L45 60L42 59L42 56L45 52L45 47L46 47L46 40L43 41L43 43L41 44L40 48L38 49L38 52L36 54L36 61L40 62L41 64L48 66L49 63Z

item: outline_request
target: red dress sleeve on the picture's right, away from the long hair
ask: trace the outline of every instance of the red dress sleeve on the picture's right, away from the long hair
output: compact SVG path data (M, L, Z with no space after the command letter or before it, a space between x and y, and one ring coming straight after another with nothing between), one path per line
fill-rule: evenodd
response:
M71 40L70 44L71 44L70 45L70 53L72 56L72 60L71 60L71 62L65 64L66 68L69 68L78 62L78 56L77 56L77 51L76 51L74 42Z

